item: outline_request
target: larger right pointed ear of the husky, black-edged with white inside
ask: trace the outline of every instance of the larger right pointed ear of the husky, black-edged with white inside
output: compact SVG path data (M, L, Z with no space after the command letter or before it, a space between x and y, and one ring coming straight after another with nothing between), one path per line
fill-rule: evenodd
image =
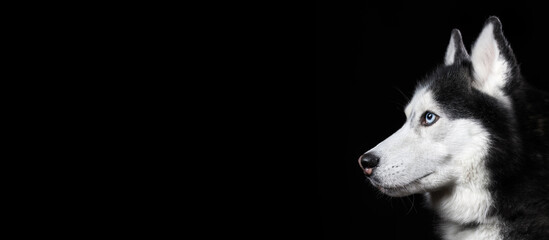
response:
M506 96L514 85L512 83L518 81L518 65L497 17L486 20L473 45L471 62L474 70L473 87L508 101Z

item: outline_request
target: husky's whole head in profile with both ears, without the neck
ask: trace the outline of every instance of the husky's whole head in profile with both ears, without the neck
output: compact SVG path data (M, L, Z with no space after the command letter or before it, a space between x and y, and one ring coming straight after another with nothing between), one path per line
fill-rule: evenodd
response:
M395 197L471 179L488 184L483 159L491 136L475 116L511 111L516 71L497 18L487 20L471 56L454 29L444 64L417 87L404 125L359 158L370 182Z

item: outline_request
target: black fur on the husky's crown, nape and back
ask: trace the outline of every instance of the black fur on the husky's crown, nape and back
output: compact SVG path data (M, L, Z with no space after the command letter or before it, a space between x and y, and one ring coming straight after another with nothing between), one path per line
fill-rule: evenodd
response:
M429 86L450 118L477 119L491 133L486 168L495 200L492 214L504 223L504 239L549 239L549 94L524 81L499 19L491 17L489 23L512 67L504 88L511 109L472 87L472 63L463 55L438 67L422 86Z

